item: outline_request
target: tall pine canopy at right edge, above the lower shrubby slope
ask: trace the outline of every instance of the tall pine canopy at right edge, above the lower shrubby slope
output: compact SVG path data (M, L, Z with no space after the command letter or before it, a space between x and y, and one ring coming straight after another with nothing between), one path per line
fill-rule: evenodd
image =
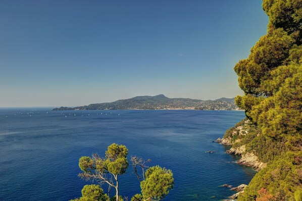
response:
M302 129L302 47L300 0L264 0L267 35L234 70L245 95L236 104L271 137L299 135Z

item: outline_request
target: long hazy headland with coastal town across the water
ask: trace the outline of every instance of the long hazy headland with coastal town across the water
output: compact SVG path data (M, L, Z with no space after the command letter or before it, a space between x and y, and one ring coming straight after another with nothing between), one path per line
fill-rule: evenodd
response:
M220 98L221 99L221 98ZM233 99L233 98L226 98ZM112 103L90 104L75 108L54 108L53 110L238 110L233 102L226 100L198 100L190 98L169 98L163 94L155 96L135 96L116 100Z

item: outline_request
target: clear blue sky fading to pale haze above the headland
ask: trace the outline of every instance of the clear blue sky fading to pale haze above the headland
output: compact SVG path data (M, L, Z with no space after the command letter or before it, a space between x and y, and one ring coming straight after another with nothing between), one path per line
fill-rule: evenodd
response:
M260 0L0 1L0 107L243 94Z

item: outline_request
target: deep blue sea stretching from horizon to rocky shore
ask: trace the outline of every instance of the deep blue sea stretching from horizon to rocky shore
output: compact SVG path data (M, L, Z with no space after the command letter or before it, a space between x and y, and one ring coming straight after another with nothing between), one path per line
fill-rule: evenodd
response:
M126 145L129 156L152 159L149 166L172 170L175 185L165 200L227 198L234 192L220 185L248 184L255 171L228 163L237 158L211 141L243 118L241 111L0 109L0 200L79 197L90 182L77 176L78 159L104 156L114 142ZM131 166L120 192L130 198L140 192Z

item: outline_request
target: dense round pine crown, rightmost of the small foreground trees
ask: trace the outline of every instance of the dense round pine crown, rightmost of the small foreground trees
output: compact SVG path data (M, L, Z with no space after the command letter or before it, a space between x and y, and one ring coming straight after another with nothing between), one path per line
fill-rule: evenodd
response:
M173 188L174 179L171 170L155 166L147 169L145 180L140 182L141 193L145 200L161 200Z

